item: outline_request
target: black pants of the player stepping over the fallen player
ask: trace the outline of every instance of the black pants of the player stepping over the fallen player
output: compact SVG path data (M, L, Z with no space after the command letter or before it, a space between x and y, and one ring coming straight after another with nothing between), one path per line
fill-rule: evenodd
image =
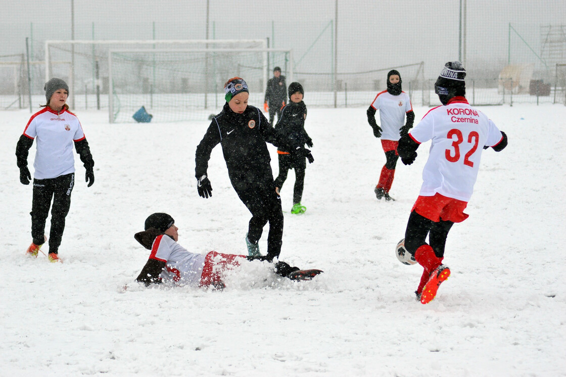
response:
M238 188L236 188L238 187ZM234 185L240 200L246 204L252 217L248 226L248 240L258 243L263 227L269 222L267 237L267 260L281 254L283 238L283 211L281 196L275 192L273 182L264 185Z

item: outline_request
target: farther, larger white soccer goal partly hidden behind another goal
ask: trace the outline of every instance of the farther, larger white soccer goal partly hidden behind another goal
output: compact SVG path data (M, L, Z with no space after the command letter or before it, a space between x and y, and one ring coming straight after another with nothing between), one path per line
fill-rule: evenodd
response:
M267 40L49 40L45 41L45 82L66 80L71 108L84 108L100 100L108 108L108 54L127 49L256 49ZM91 98L89 98L91 97Z

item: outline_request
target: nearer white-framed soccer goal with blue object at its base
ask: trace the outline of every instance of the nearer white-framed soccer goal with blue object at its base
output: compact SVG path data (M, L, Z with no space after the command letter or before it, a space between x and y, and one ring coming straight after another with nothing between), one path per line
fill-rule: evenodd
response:
M259 107L271 67L292 82L292 59L286 49L111 50L110 123L134 122L141 106L152 122L207 120L222 109L224 83L234 76L246 80L250 105Z

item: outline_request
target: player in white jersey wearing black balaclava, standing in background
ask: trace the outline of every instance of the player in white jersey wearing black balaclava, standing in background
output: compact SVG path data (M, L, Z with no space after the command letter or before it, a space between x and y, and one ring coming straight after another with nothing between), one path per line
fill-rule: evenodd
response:
M392 200L389 190L395 177L395 166L399 156L397 155L397 144L401 136L406 135L413 127L415 113L409 95L401 91L401 75L396 70L387 74L387 90L379 92L370 107L367 109L367 122L374 129L374 136L381 138L381 147L385 152L385 165L381 168L379 182L374 192L378 199ZM381 127L375 122L375 113L379 110ZM407 123L405 122L407 115Z

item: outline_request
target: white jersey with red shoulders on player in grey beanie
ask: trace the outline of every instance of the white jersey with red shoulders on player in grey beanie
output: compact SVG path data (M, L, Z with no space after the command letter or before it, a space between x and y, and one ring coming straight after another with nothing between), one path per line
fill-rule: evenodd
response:
M57 113L49 106L32 115L24 135L36 140L33 178L56 178L75 172L73 142L84 139L83 127L75 114Z

